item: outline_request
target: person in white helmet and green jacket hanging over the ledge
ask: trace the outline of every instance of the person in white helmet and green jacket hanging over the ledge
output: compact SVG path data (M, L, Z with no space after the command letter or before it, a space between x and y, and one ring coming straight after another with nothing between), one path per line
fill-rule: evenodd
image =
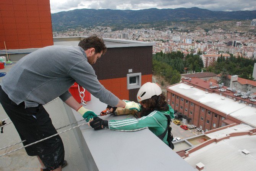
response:
M148 127L165 144L173 149L170 121L174 118L174 110L165 101L162 89L156 83L147 82L138 91L141 118L124 120L102 120L94 117L89 123L95 130L118 129L135 130Z

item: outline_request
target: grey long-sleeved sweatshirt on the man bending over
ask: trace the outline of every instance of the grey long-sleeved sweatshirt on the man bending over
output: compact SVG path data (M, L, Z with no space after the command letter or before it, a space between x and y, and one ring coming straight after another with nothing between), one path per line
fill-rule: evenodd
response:
M79 46L47 46L24 56L5 75L1 86L16 104L24 101L26 107L36 107L57 97L66 101L74 82L101 102L117 105L119 99L99 83Z

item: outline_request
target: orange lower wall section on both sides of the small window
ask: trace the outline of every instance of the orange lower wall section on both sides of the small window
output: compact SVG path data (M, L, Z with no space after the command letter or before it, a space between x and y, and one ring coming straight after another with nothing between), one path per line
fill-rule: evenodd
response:
M129 90L127 89L127 78L113 78L107 80L99 80L99 82L119 99L129 100ZM152 74L141 75L141 85L146 82L152 82Z

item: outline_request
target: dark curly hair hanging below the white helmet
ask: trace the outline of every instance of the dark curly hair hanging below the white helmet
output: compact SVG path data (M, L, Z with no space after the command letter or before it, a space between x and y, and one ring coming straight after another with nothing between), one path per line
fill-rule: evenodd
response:
M160 94L159 96L154 95L150 99L145 99L141 101L142 104L146 105L146 108L142 107L142 112L140 112L140 117L147 116L149 113L153 112L154 110L158 111L168 111L169 106L165 101L164 93Z

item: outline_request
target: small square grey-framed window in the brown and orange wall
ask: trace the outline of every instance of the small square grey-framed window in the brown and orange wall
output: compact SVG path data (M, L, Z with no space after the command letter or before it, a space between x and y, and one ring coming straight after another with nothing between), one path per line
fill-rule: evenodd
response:
M127 89L135 89L141 87L141 72L127 74Z

